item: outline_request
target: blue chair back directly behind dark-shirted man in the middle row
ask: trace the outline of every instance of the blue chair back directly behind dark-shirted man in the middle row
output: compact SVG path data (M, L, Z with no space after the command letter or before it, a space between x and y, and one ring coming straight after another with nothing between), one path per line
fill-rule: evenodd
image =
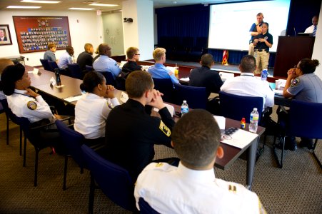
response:
M176 105L187 101L189 108L203 108L206 109L208 97L206 87L183 86L181 84L174 84L174 103Z

